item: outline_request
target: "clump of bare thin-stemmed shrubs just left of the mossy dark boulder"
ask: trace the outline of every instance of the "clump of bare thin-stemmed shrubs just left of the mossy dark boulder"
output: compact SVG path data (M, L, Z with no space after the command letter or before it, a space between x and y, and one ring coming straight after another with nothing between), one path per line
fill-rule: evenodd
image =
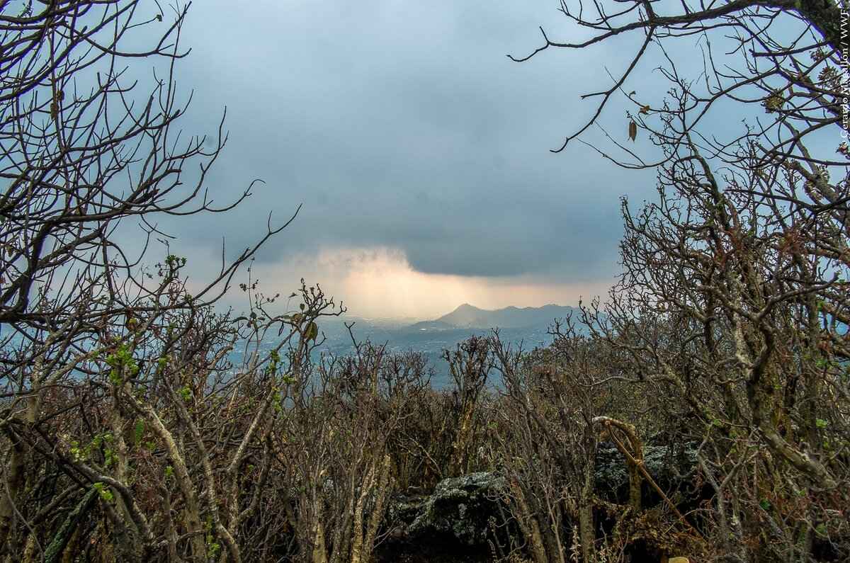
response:
M326 355L306 395L292 397L277 435L303 560L370 559L395 490L390 445L414 416L405 399L421 368L417 355L366 342L354 355Z

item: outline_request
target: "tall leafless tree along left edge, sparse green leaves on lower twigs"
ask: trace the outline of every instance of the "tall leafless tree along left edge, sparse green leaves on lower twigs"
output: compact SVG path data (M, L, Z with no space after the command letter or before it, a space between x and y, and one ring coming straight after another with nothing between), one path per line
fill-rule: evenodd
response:
M218 273L192 292L186 260L167 245L159 264L147 262L150 240L167 239L159 218L224 212L250 195L249 187L222 206L207 195L207 173L226 141L223 122L213 139L175 129L190 99L174 86L187 9L134 0L0 2L6 560L55 560L69 544L82 549L79 537L92 531L81 529L96 520L82 519L93 499L104 518L93 543L121 560L206 560L222 545L240 560L235 537L254 505L240 513L233 502L246 448L262 444L256 429L271 384L232 377L226 357L258 328L256 315L238 319L212 305L288 223L269 221L257 244L231 261L223 249ZM127 50L138 28L158 38L147 50ZM133 77L142 61L153 70L147 91ZM134 244L129 222L140 228ZM314 322L320 310L304 318ZM289 338L303 341L315 325L287 326ZM228 394L230 407L246 400L242 385L258 385L249 401L260 414L231 429L229 440L240 446L222 477L213 471L220 458L207 424ZM145 471L158 475L139 479ZM158 482L173 485L156 486L162 475ZM77 506L75 516L57 528L67 503Z

